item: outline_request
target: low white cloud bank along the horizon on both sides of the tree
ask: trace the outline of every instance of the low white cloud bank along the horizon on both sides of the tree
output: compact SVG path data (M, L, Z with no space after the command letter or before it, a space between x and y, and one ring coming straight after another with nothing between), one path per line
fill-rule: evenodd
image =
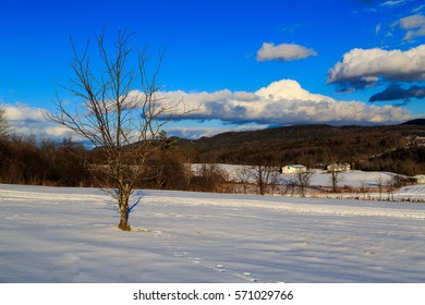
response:
M132 94L138 95L139 91ZM157 97L167 98L162 102L170 103L183 98L184 105L174 109L177 119L166 125L166 129L170 134L187 138L209 136L229 130L265 129L270 125L399 123L411 119L409 111L401 108L335 100L309 93L293 80L274 82L253 93L228 89L212 93L177 90L159 91ZM14 131L19 134L36 134L39 138L54 139L70 136L69 130L46 122L42 109L32 108L25 103L3 107ZM187 109L194 111L180 118L179 114ZM192 123L187 126L185 122L189 121Z

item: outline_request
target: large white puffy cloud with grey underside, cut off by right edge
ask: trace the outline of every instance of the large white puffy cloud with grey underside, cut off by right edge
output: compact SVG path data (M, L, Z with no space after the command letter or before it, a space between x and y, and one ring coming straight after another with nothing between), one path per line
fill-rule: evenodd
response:
M353 49L328 71L327 83L339 91L375 86L385 81L420 82L425 80L425 45L408 51Z

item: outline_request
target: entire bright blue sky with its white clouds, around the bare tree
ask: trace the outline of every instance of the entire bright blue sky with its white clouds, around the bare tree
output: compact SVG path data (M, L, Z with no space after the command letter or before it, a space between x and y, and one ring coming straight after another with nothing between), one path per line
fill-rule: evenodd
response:
M162 90L199 108L172 134L425 117L423 1L0 0L0 105L16 131L64 135L40 110L71 76L70 35L83 48L105 25L166 47Z

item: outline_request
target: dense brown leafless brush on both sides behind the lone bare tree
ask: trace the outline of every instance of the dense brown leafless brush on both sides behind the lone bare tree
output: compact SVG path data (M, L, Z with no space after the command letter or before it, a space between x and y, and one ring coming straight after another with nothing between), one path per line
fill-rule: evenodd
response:
M124 162L124 170L132 171L133 164ZM113 183L104 174L107 166L99 149L88 150L70 138L61 143L20 135L0 139L0 183L108 188ZM222 171L192 171L178 149L160 148L146 159L135 187L219 192L224 180Z

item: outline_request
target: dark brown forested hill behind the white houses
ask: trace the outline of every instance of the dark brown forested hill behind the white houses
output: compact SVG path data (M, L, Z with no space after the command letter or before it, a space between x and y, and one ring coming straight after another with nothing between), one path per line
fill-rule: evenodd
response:
M292 125L180 139L191 162L323 166L331 156L357 168L414 173L425 170L425 120L400 125ZM410 168L410 169L409 169ZM413 169L414 168L414 169Z

